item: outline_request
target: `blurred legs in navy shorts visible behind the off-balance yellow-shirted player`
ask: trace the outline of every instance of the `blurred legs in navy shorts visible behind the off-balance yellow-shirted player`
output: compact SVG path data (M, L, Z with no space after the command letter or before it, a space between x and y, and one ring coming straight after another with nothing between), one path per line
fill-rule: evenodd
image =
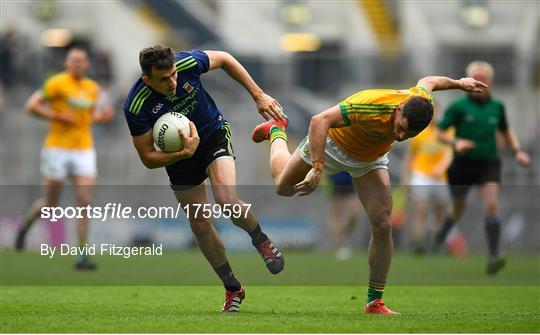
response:
M346 260L351 257L352 252L346 245L347 236L360 216L360 206L350 174L343 171L328 176L328 179L331 188L328 229L333 237L332 247L337 259Z

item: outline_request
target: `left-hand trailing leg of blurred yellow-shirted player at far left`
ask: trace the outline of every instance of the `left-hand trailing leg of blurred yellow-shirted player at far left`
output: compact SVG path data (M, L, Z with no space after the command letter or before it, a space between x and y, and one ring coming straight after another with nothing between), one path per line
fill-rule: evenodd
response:
M23 221L19 226L19 230L17 231L17 237L15 239L16 250L24 249L26 234L28 233L28 230L30 230L32 224L40 216L41 209L44 206L56 206L58 200L60 199L62 185L64 185L64 182L61 180L54 180L50 178L43 179L43 188L45 195L36 200L30 207L30 210L24 216Z

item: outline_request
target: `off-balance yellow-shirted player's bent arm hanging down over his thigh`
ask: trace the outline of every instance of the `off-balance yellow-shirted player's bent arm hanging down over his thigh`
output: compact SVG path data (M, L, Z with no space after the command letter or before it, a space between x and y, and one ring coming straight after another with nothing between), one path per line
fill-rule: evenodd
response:
M328 129L343 126L345 126L345 122L339 105L333 106L311 118L308 137L313 164L304 180L294 186L294 190L299 192L298 195L308 195L315 191L319 185L324 167L324 148Z

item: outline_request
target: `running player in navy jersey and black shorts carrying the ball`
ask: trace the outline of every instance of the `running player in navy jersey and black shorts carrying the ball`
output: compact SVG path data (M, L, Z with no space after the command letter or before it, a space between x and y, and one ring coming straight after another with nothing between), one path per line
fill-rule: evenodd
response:
M223 69L248 91L266 120L284 120L279 103L265 94L244 67L226 52L195 50L174 54L170 48L154 46L140 52L139 62L143 74L126 99L124 114L143 164L150 169L165 167L171 188L183 206L209 203L204 181L210 178L216 203L242 207L240 217L231 217L233 223L250 235L268 270L272 274L281 272L285 266L283 255L262 232L253 211L238 198L231 128L203 88L200 76ZM191 136L179 131L184 147L178 152L156 151L152 127L161 115L170 111L191 120ZM245 291L229 265L223 241L211 218L194 217L194 207L190 212L189 224L199 248L225 286L222 311L238 312Z

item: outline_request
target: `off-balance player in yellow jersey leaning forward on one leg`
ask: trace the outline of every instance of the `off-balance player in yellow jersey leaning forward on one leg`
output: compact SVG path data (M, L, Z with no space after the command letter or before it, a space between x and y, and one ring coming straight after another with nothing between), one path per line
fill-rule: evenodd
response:
M315 115L308 137L292 155L287 148L287 122L271 120L253 130L253 141L271 143L270 171L279 195L312 193L323 171L351 174L372 232L366 313L398 314L382 301L392 258L388 151L394 141L414 137L427 127L433 117L432 91L474 91L480 86L472 78L425 77L407 90L360 91Z

